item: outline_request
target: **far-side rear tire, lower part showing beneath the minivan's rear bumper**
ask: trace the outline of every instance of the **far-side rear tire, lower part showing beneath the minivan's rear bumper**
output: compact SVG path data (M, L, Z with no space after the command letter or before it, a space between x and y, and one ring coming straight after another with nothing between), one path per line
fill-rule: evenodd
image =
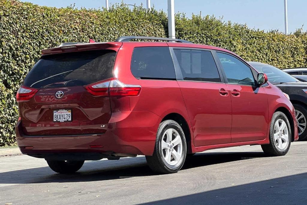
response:
M47 164L49 167L60 174L72 174L78 171L84 161L48 161Z

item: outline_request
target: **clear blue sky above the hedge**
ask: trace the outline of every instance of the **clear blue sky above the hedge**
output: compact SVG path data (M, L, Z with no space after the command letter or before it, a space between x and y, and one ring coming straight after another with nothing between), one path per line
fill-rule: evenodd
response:
M22 0L43 6L66 7L76 3L76 7L99 8L105 6L105 0ZM121 0L109 0L109 3L120 3ZM175 0L175 11L222 17L225 21L247 24L250 28L261 30L279 29L284 31L283 0ZM124 0L126 4L146 6L146 0ZM157 10L167 11L167 0L151 0ZM297 28L307 30L307 1L288 0L288 30Z

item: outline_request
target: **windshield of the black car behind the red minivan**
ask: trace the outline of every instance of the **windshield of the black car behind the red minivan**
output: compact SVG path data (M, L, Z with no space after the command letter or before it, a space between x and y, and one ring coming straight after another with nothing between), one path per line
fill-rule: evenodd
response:
M265 73L268 76L268 80L272 84L280 84L284 82L299 82L296 78L274 66L254 65L253 67L258 70L259 73Z

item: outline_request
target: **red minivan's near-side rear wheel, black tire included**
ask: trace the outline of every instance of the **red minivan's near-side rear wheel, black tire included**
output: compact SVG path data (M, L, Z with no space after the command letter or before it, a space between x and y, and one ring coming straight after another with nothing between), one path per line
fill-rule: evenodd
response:
M169 140L171 143L166 142ZM155 172L175 173L185 163L186 151L185 134L180 125L173 120L165 120L159 125L153 155L146 156L146 161Z

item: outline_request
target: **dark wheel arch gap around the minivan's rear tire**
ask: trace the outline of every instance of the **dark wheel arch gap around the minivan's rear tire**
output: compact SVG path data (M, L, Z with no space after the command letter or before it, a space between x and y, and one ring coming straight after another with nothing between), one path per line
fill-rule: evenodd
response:
M187 154L192 153L191 131L190 131L190 128L188 126L186 119L182 115L173 112L173 113L169 113L165 115L165 117L161 120L161 122L165 120L174 120L181 126L185 134L185 140L187 142Z

